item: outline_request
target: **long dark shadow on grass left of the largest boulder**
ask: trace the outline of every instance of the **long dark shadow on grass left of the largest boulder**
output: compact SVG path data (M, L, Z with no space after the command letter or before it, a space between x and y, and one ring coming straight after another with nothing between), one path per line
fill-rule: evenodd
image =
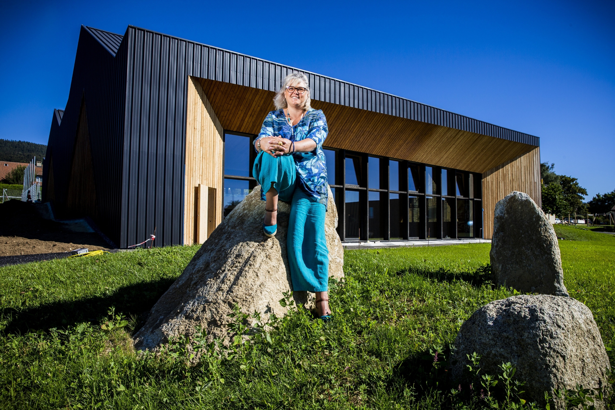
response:
M0 312L2 321L7 324L4 332L23 334L33 330L66 328L81 322L97 324L106 318L107 310L111 306L116 307L117 313L124 313L126 316L143 315L149 312L174 281L175 279L161 279L137 283L120 287L108 295L50 303L24 310L5 308Z

